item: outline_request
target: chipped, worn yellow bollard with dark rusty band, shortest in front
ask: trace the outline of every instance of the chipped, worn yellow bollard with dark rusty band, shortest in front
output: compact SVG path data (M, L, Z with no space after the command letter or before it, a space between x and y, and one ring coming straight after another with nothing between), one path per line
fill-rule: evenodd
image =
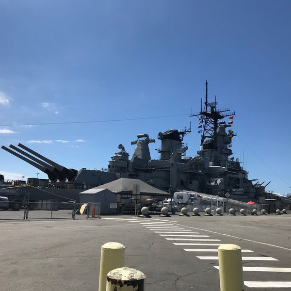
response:
M118 268L107 274L106 291L146 291L146 275L132 268Z

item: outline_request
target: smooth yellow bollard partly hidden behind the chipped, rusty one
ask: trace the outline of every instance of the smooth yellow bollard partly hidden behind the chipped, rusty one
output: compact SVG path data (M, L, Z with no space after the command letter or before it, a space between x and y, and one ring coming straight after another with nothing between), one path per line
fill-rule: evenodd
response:
M124 267L125 246L118 242L107 242L101 247L99 289L106 291L106 275L116 268Z

